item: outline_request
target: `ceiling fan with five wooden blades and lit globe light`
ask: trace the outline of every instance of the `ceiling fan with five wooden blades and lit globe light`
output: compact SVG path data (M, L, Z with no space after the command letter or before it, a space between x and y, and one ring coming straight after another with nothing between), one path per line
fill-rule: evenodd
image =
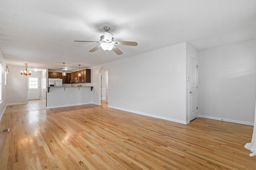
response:
M114 45L131 45L131 46L137 46L138 43L136 42L130 42L130 41L114 41L113 34L108 32L110 31L110 27L105 26L104 28L104 35L100 36L100 41L74 41L74 42L80 42L80 43L100 43L97 47L94 49L91 49L89 52L94 52L100 47L104 49L105 51L113 50L117 55L121 55L123 52L120 51L116 46Z

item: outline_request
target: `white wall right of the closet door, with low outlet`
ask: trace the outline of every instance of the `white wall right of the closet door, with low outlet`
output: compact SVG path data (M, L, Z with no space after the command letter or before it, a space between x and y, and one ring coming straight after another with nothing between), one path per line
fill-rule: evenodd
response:
M200 50L198 62L200 116L253 125L256 39Z

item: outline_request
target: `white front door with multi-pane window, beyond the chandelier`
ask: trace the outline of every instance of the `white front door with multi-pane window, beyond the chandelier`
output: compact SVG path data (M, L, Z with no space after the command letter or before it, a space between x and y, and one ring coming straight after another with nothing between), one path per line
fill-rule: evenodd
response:
M28 100L40 99L39 76L28 76Z

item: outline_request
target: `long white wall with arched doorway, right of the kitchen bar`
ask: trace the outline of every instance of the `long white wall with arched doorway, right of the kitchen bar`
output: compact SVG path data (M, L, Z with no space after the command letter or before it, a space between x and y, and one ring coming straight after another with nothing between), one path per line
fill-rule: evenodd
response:
M104 67L109 107L187 123L186 43L93 66L95 104L100 104L100 69Z

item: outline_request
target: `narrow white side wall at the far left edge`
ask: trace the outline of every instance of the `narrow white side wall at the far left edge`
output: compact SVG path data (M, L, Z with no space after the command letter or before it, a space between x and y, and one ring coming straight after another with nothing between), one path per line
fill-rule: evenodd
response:
M2 75L2 103L0 103L0 120L4 114L5 108L6 108L6 86L5 86L5 60L4 57L2 55L2 51L0 50L0 61L1 61L1 65L2 65L2 70L1 70L1 75ZM8 77L8 74L6 75L6 78Z

